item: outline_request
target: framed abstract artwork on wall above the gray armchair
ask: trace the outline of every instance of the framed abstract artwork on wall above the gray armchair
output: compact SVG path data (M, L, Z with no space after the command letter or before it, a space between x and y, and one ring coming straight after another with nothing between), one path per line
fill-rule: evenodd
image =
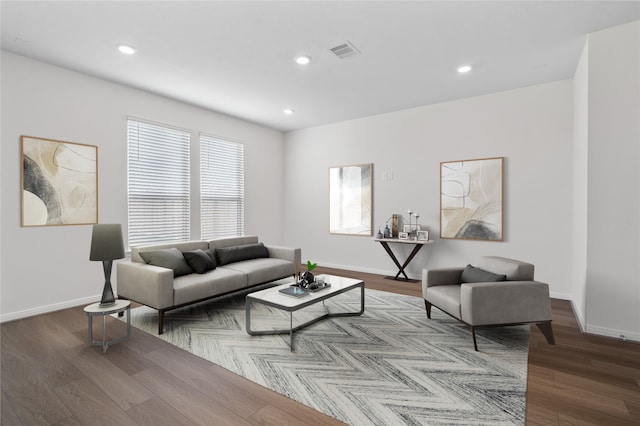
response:
M504 241L504 157L440 163L440 238Z

